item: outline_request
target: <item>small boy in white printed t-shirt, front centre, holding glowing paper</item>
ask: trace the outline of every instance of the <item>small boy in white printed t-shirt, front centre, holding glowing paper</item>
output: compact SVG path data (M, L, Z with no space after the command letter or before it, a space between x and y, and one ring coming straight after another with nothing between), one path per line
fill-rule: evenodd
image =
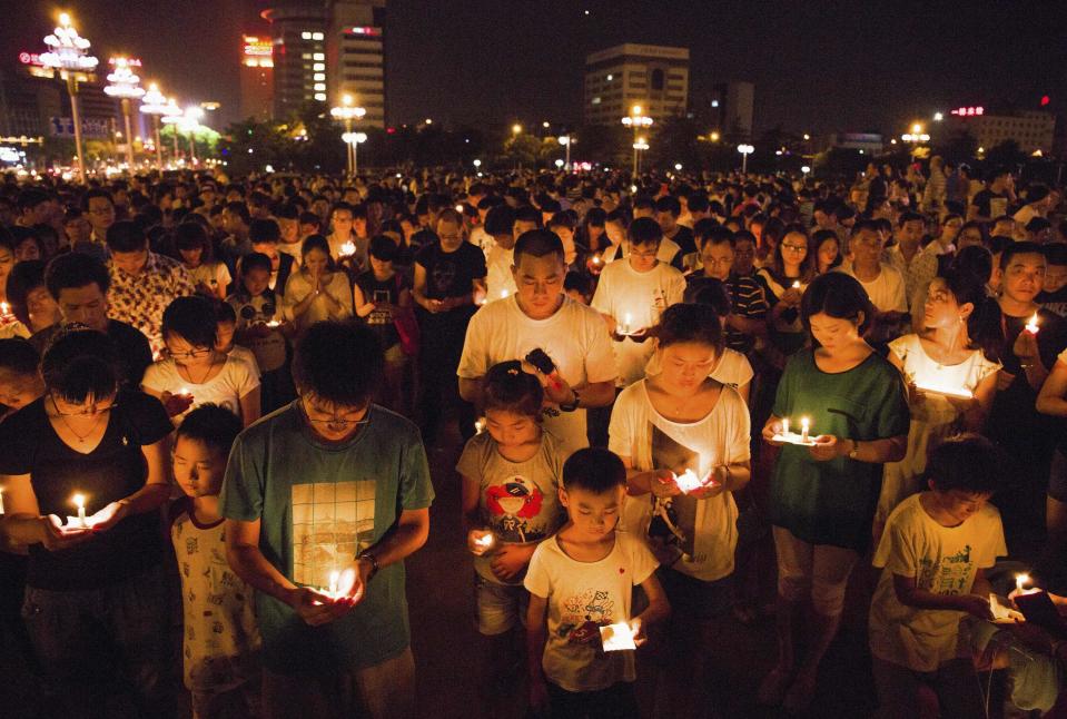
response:
M644 541L616 531L626 467L612 452L584 449L563 465L560 502L569 521L537 545L523 582L530 591L530 700L554 717L638 717L633 650L605 652L602 627L629 626L633 643L671 611ZM633 588L649 605L630 615ZM626 629L623 629L626 631Z

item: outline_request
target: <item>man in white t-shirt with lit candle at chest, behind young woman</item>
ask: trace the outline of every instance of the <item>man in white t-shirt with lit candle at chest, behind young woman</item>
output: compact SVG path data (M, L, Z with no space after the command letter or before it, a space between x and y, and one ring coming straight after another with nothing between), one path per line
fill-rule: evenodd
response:
M685 277L656 259L663 230L648 217L633 220L629 230L630 253L601 273L592 307L604 315L612 328L619 387L644 376L653 343L648 331L660 322L663 311L682 302Z

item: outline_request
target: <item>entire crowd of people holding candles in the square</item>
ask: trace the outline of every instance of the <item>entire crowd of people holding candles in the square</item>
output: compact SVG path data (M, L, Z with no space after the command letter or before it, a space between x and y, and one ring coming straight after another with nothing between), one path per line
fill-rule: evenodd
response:
M850 583L878 716L987 716L995 669L1050 710L1067 636L994 621L1067 614L1067 219L978 176L7 178L9 693L416 716L431 451L472 712L636 717L648 672L724 716L724 622L771 615L759 701L806 711Z

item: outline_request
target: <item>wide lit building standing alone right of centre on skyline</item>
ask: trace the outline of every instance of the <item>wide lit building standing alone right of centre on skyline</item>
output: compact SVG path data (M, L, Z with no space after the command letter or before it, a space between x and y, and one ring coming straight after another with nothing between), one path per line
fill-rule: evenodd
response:
M689 48L626 42L585 58L586 125L614 125L631 108L653 120L684 115Z

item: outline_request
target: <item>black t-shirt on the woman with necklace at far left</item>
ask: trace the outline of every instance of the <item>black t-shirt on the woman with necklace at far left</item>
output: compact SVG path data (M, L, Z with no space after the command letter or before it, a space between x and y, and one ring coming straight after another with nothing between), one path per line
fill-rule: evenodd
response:
M56 434L41 397L0 424L0 473L29 474L42 515L76 514L71 498L77 493L85 494L86 513L92 514L145 485L141 446L172 430L158 400L122 390L100 444L82 454ZM99 589L152 569L162 552L159 514L136 514L71 549L50 552L33 544L27 584L52 591Z

